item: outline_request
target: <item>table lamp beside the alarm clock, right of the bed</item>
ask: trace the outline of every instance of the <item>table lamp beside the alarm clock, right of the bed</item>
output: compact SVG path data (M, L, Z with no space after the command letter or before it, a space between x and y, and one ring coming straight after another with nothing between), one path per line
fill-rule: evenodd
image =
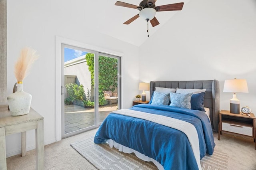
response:
M232 92L230 99L230 113L240 114L240 101L236 98L236 93L248 93L246 79L229 79L224 82L223 92Z

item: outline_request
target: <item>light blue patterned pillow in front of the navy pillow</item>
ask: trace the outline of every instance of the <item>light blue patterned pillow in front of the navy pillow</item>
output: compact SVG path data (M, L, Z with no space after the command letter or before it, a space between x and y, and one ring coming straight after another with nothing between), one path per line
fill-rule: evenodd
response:
M180 94L180 93L170 93L170 106L180 107L185 109L191 109L191 96L193 93Z

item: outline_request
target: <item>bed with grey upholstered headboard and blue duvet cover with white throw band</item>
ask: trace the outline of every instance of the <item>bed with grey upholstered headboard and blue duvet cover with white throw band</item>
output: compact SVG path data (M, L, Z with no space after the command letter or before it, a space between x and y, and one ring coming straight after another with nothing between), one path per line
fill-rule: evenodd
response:
M169 103L162 98L168 93L159 89L175 89L169 93ZM204 91L190 93L199 89ZM201 110L192 109L192 97L202 94ZM119 151L134 152L154 162L158 169L201 169L200 159L214 152L212 130L218 130L219 82L151 81L150 96L150 104L110 113L96 132L94 143L108 142ZM175 105L181 99L182 106ZM186 108L189 104L191 109ZM208 108L210 117L202 107Z

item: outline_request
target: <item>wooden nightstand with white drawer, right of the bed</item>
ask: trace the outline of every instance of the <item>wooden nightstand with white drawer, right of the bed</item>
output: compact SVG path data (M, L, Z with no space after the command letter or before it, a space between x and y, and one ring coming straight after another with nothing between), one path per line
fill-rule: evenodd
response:
M220 111L220 123L219 123L219 134L218 140L220 140L220 134L229 133L236 134L237 136L247 136L256 138L256 125L255 125L255 115L250 113L250 117L247 115L234 114L230 111L221 110ZM255 142L256 149L256 142Z

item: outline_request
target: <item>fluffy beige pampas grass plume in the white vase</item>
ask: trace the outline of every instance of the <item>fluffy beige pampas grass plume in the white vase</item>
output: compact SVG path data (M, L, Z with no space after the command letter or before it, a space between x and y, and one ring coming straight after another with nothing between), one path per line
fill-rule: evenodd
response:
M14 74L18 82L22 81L28 75L32 64L38 58L39 55L36 54L35 49L26 47L21 50L20 57L14 67Z

